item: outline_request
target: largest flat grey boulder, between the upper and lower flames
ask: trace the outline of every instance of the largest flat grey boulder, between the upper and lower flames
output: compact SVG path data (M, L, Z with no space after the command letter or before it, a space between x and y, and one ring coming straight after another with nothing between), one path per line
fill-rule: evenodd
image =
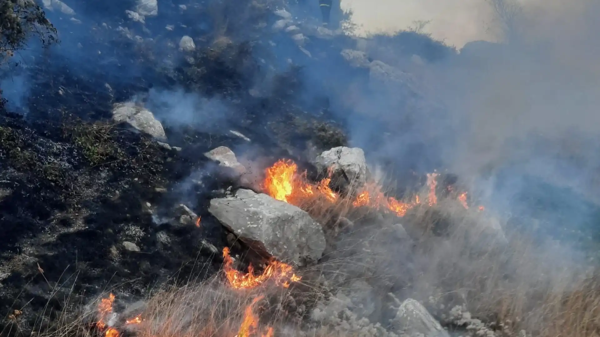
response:
M239 189L233 197L212 199L208 211L265 256L304 265L319 260L325 250L320 224L304 210L269 195Z

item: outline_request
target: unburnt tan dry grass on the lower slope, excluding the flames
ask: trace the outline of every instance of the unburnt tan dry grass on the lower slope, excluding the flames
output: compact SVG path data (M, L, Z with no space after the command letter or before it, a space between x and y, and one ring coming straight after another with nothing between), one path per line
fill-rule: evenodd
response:
M424 189L419 195L425 197L427 192ZM256 305L261 317L256 336L269 326L275 327L275 336L370 336L335 326L311 326L307 321L317 302L344 287L347 291L360 280L380 290L380 298L371 299L380 303L379 310L385 310L389 287L400 287L403 296L421 300L445 323L452 323L443 319L452 306L465 305L473 317L494 323L498 336L518 336L520 330L539 337L600 336L598 270L568 246L550 240L542 245L539 238L534 241L530 234L512 231L506 224L502 226L506 240L500 240L497 231L490 229L499 222L490 214L476 207L464 209L455 199L442 199L433 207L422 203L400 219L415 239L413 249L391 236L389 223L382 222L378 212L354 209L354 195L332 202L319 194L298 205L323 224L335 227L340 216L356 222L355 228L335 232L339 236L334 249L326 252L323 263L304 270L299 287L235 290L220 277L164 287L148 299L141 312L145 320L126 328L139 336L233 337L244 309L254 297L265 296ZM412 268L407 267L408 261ZM326 286L319 283L320 277L328 279ZM77 318L53 335L73 335L67 331L81 335L85 329L74 327L85 321Z

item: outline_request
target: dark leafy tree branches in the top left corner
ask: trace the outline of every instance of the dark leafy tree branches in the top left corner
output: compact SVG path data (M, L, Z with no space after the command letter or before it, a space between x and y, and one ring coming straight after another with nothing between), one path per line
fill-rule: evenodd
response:
M0 58L10 58L31 36L44 46L58 41L56 29L33 0L0 1Z

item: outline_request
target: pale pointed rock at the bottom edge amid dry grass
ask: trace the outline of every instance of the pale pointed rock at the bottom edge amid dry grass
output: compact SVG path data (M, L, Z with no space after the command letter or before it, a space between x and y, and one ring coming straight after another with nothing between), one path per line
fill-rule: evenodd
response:
M417 300L406 299L398 308L392 324L409 336L449 337L448 332Z

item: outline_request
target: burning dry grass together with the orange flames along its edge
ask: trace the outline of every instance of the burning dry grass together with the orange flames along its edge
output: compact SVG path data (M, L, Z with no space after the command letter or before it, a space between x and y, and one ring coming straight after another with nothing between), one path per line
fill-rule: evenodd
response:
M149 297L142 312L119 318L121 326L108 324L115 297L107 295L98 302L96 329L105 337L124 332L148 337L371 336L352 330L360 324L347 320L360 319L356 314L317 325L310 321L316 303L335 292L325 296L315 281L322 277L334 279L328 287L336 291L352 291L353 280L365 280L383 293L382 298L370 298L382 306L385 293L402 288L404 296L421 300L451 328L473 326L467 316L452 316L452 308L464 306L472 317L488 323L486 329L495 330L494 336L522 336L521 330L539 337L600 335L597 269L560 243L541 246L522 231L494 225L490 214L469 207L466 192L438 197L436 177L430 174L427 186L412 200L398 201L374 183L354 194L338 194L329 188L328 177L310 182L294 163L278 161L267 170L263 187L269 194L320 221L349 216L359 228L338 237L334 251L308 270L295 271L273 260L260 273L252 267L242 272L224 249L223 275L163 287ZM401 211L394 208L398 204L404 205ZM356 217L362 211L402 216L416 238L416 249L394 239L389 224L362 228L366 220ZM504 228L505 239L499 239L498 228ZM383 317L385 313L377 318L385 327ZM327 323L335 320L341 325ZM60 331L60 337L66 335Z

